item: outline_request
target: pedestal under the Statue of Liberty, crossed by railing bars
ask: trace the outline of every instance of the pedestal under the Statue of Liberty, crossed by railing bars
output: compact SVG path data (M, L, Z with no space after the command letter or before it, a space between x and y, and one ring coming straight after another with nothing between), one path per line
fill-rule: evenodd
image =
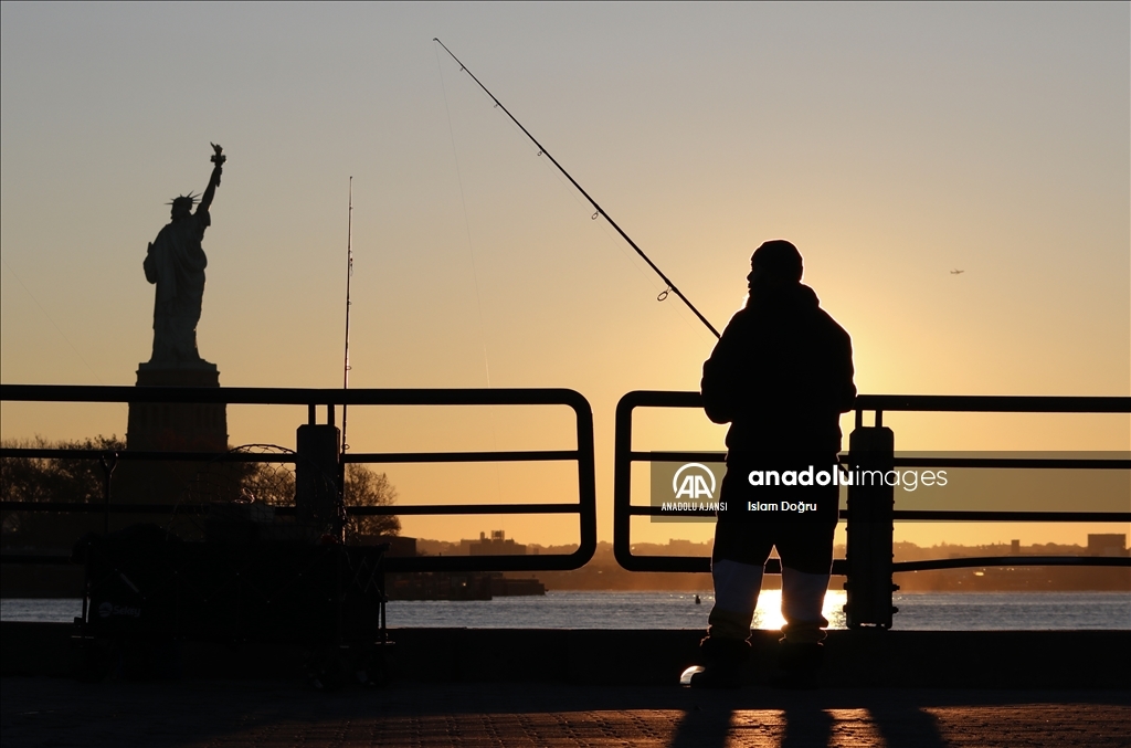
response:
M219 387L216 364L154 364L138 367L138 387ZM227 450L227 406L222 403L130 403L126 449L132 452ZM114 471L113 497L124 504L196 501L190 484L207 463L123 459ZM119 515L133 522L165 524L167 517Z

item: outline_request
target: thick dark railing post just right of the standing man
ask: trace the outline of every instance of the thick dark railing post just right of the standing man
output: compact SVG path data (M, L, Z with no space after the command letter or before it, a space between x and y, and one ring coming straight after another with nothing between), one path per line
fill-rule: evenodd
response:
M848 581L845 604L848 628L891 628L891 539L895 487L895 433L879 425L858 425L848 437L852 483L848 485Z

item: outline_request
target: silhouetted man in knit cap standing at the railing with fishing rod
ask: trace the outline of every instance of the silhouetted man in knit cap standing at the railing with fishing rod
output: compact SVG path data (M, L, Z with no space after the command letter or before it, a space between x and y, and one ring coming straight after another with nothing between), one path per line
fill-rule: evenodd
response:
M737 688L770 549L782 558L780 685L814 687L832 564L840 413L852 410L852 338L801 283L783 240L751 258L750 296L703 363L707 416L731 423L711 575L715 607L692 687ZM824 484L821 473L824 473ZM803 505L803 506L802 506ZM805 510L802 511L801 509Z

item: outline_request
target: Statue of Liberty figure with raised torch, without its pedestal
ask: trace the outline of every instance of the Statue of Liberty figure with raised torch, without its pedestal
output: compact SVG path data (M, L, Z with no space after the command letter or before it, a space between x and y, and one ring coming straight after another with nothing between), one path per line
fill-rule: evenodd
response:
M211 224L211 206L223 173L222 148L213 146L216 155L211 179L200 196L196 213L196 198L182 195L174 198L172 221L161 230L149 244L144 268L149 283L157 285L153 308L153 355L150 363L184 366L207 363L197 351L197 323L205 294L205 267L208 258L200 242L205 229Z

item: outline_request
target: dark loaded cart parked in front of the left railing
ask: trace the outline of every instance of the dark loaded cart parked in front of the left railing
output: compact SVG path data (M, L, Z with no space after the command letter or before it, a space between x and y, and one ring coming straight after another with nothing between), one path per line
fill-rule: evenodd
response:
M178 642L260 642L310 652L316 688L333 690L353 676L383 685L387 549L184 542L157 525L87 535L71 559L86 567L74 636L79 674L102 679L126 647L162 677Z

